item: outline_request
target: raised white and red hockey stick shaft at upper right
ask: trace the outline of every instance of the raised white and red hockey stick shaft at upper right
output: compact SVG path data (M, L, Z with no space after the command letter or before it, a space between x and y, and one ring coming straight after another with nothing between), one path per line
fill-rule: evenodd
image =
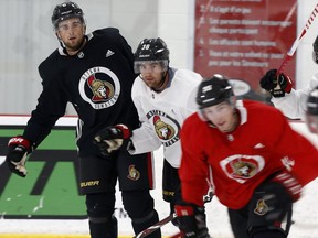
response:
M296 52L300 41L303 40L303 37L305 36L305 34L307 33L307 31L309 30L310 25L312 24L315 18L317 17L318 14L318 3L315 6L315 9L314 11L311 12L309 19L307 20L307 23L305 24L301 33L298 35L298 37L295 40L295 42L293 43L292 47L289 48L289 51L287 52L284 61L282 62L282 65L280 67L278 68L277 71L277 74L276 75L279 75L280 73L284 72L287 63L293 58L294 56L294 53Z

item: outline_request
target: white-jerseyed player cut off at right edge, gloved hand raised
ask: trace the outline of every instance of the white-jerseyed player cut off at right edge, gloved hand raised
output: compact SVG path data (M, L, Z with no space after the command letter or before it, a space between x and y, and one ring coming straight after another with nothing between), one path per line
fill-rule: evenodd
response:
M312 44L312 60L318 64L318 36ZM271 101L276 108L290 119L305 119L306 101L309 93L318 86L318 73L312 75L307 87L301 89L293 88L293 80L285 74L276 76L277 69L268 71L261 79L261 87L272 94ZM279 87L277 87L277 83Z

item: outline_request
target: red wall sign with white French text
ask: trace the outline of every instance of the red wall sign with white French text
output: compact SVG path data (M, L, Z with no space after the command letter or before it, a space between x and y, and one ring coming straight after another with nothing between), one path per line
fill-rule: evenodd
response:
M296 0L197 0L194 71L222 74L259 90L296 39ZM295 78L295 57L285 72Z

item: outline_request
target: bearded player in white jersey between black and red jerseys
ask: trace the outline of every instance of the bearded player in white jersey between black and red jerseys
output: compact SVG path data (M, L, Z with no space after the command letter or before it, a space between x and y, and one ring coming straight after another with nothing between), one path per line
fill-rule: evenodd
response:
M183 203L178 174L181 162L180 129L186 118L197 111L195 96L202 76L192 71L170 67L169 50L159 37L145 39L139 43L135 53L135 73L139 76L132 85L131 97L141 121L140 128L130 131L124 125L116 125L102 131L97 140L105 141L107 153L125 149L138 154L163 145L162 195L170 203L172 214L174 205ZM195 214L201 217L202 224L200 227L189 227L192 235L184 237L210 237L204 209L195 210ZM187 220L178 225L187 226Z

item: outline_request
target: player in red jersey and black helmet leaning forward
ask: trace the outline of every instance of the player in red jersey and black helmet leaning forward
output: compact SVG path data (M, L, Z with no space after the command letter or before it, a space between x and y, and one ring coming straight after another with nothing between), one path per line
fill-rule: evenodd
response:
M203 206L206 178L229 208L235 238L287 237L293 203L318 174L316 148L278 109L235 101L221 75L201 83L197 102L200 111L181 129L179 174L189 205L178 207L177 215L187 224L186 237L197 231L193 210Z

